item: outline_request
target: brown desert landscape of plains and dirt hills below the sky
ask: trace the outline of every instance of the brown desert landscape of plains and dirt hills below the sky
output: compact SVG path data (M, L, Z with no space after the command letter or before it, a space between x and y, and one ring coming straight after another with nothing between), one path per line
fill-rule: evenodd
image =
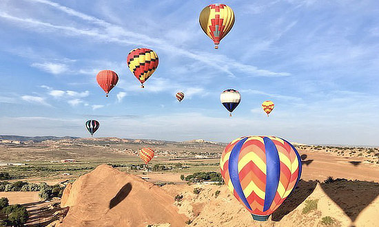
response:
M257 222L222 182L186 180L193 173L219 173L223 143L1 138L0 172L10 175L7 182L62 188L50 200L37 191L0 192L27 208L27 226L375 226L379 217L376 147L294 142L301 180L268 221ZM145 146L156 151L147 175L138 155Z

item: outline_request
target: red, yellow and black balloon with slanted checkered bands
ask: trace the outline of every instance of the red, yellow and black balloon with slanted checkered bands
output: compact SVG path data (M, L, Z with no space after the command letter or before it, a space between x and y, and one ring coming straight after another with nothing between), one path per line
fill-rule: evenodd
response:
M152 76L156 67L158 67L158 55L153 50L147 48L136 48L127 54L127 67L143 83Z

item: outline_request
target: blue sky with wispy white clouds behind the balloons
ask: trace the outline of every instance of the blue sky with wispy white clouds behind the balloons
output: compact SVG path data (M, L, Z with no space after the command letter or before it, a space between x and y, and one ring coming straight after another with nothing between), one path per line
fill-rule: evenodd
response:
M93 118L96 136L379 145L378 1L224 1L236 23L219 50L198 24L209 3L1 1L0 134L87 137ZM145 89L135 47L159 56ZM109 98L101 69L119 74ZM242 95L233 118L224 89Z

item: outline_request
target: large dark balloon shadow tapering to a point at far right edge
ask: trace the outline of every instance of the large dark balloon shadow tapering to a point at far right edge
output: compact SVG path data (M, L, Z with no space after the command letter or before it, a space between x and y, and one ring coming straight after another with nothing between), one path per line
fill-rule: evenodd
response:
M328 177L320 186L353 222L379 196L379 184L376 182Z

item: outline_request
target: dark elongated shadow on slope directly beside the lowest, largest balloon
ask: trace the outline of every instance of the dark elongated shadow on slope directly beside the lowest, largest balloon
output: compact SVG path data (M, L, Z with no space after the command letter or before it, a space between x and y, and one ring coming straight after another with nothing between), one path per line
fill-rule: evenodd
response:
M272 213L273 221L280 221L285 215L291 213L292 210L296 209L300 204L302 204L305 199L311 193L313 193L314 188L316 188L317 182L300 180L298 185L292 191L292 193L285 199L282 205Z

